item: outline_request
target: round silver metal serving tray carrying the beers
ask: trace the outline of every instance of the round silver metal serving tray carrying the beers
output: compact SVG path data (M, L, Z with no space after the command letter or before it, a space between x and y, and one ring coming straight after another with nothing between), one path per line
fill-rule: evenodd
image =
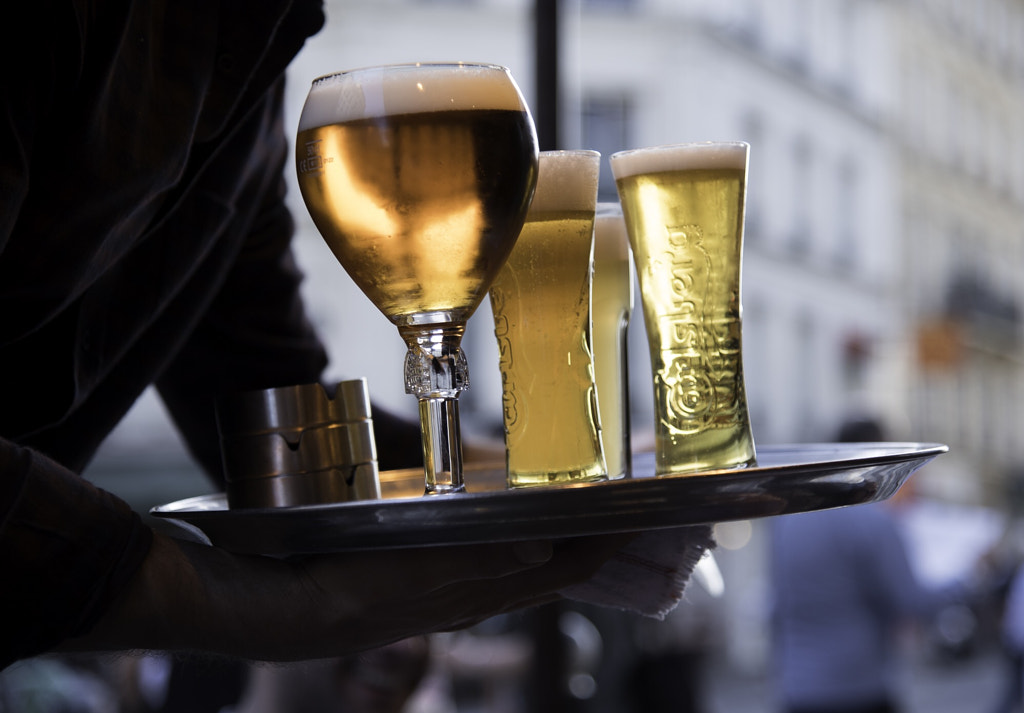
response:
M282 508L250 508L228 509L223 493L215 493L194 498L185 498L151 509L151 514L161 518L188 533L194 538L208 543L223 546L237 552L256 554L289 554L326 551L344 551L358 549L385 549L395 547L422 547L431 545L468 544L498 540L536 539L550 537L572 537L575 535L592 535L599 532L635 532L640 530L666 529L668 527L685 527L706 522L727 521L730 519L753 519L758 517L787 514L812 509L827 509L859 503L885 500L896 492L909 475L939 455L948 452L948 447L939 443L916 442L878 442L861 444L778 444L759 447L760 455L778 455L785 453L804 453L808 455L821 454L821 459L803 460L791 463L771 463L750 468L715 469L699 473L672 474L654 476L641 474L633 478L605 480L591 484L570 484L543 488L527 488L520 490L492 490L467 492L453 495L407 496L382 498L380 500L364 500L347 503L330 503L302 505ZM881 453L880 453L881 451ZM859 455L858 455L859 454ZM652 453L637 454L639 460L649 459L652 464ZM913 467L905 473L892 476L890 471L898 469L901 463L911 463ZM481 466L486 468L486 466ZM652 469L652 465L651 465ZM876 492L872 486L878 481L856 483L854 473L885 470L890 492ZM494 465L490 466L494 471ZM398 477L404 473L408 477L421 474L420 469L401 471L384 471L382 481ZM840 478L836 478L840 475ZM810 476L810 480L808 479ZM678 526L665 525L672 520L674 513L665 512L686 492L698 495L725 494L723 497L734 496L750 498L761 493L765 484L776 484L775 491L767 493L765 498L784 498L783 492L787 484L781 488L777 481L780 477L791 478L795 488L806 488L809 483L827 485L833 483L837 488L846 488L850 494L848 501L828 502L821 506L800 507L798 509L781 508L778 512L750 513L739 508L737 516L729 516L721 510L714 517L700 520L691 518ZM853 478L851 480L851 478ZM467 484L470 478L467 477ZM771 490L771 489L767 489ZM863 490L863 492L861 492ZM866 496L866 497L861 497ZM210 504L214 503L214 507ZM656 523L644 527L644 508L651 508ZM580 513L581 506L598 506L593 513ZM602 513L600 507L609 506L611 512ZM575 506L575 507L572 507ZM676 507L683 507L676 503ZM711 509L711 508L710 508ZM529 511L544 514L542 522L532 522ZM495 517L504 515L508 522L496 522ZM347 516L347 517L346 517ZM607 529L602 530L601 518L606 516ZM627 527L631 517L636 518L633 527ZM350 519L352 521L344 521ZM461 527L479 531L478 536L450 533L437 539L432 535L445 527ZM610 522L614 520L615 526ZM285 532L283 540L271 545L255 545L252 548L243 543L241 548L229 534L227 542L222 532L224 528L245 530L258 523L270 523L287 531L289 527L299 531L295 537L288 537ZM503 526L507 525L508 528ZM348 526L350 530L344 530ZM524 528L522 534L506 532L518 526ZM335 533L317 532L317 527L342 528ZM574 530L575 528L575 530ZM213 532L216 531L216 532ZM488 533L489 535L484 535ZM540 533L540 534L538 534ZM305 535L306 544L303 545ZM424 536L427 538L424 540ZM265 541L267 533L257 533L257 541ZM349 539L343 546L337 542ZM272 539L272 538L270 538ZM291 544L289 544L289 541ZM296 544L298 541L298 544ZM321 544L310 544L313 541ZM335 542L335 545L323 543ZM224 544L222 544L224 543ZM234 545L234 546L227 546Z

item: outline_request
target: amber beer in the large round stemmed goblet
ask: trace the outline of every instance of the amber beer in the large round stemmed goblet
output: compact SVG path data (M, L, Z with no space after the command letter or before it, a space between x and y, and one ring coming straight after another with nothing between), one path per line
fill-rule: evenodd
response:
M479 106L471 108L434 106L429 91L396 92L391 103L409 111L380 121L371 97L340 117L330 112L349 100L331 79L314 84L296 143L313 222L392 322L415 314L418 324L464 323L515 244L529 203L537 165L526 146L536 139L518 93L498 91L482 76Z

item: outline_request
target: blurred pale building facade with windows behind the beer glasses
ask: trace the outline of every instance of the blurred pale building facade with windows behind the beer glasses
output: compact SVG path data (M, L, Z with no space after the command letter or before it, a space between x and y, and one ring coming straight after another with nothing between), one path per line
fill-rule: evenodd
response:
M330 0L292 71L309 81L411 60L510 67L534 101L528 0ZM563 0L564 149L751 143L749 402L762 443L828 439L851 414L953 450L950 497L999 498L1024 462L1024 3L1019 0ZM614 200L605 162L602 200ZM314 317L339 375L401 392L393 328L347 283L298 202ZM340 308L339 308L340 306ZM486 304L466 348L470 430L500 419ZM359 346L354 346L359 345ZM634 423L649 424L639 310ZM407 401L410 400L410 401Z

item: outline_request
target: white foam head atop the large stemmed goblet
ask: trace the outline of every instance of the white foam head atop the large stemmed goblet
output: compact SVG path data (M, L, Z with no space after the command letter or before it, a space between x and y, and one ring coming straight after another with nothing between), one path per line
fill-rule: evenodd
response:
M313 81L299 131L343 121L420 112L525 108L508 71L495 65L394 65Z

